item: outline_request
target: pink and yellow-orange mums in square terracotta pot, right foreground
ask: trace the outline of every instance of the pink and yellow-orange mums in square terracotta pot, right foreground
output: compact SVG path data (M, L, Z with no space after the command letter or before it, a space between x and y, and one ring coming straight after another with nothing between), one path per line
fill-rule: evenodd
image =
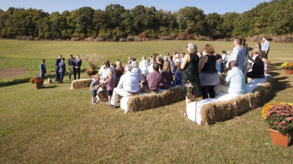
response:
M293 104L267 103L262 109L262 117L269 124L273 143L288 147L293 141Z

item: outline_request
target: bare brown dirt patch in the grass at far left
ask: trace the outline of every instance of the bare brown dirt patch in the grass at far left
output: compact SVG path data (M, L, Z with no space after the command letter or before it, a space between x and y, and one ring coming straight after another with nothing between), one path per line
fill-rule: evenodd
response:
M28 73L28 70L24 67L11 67L0 69L0 79L7 79L13 77L24 76Z

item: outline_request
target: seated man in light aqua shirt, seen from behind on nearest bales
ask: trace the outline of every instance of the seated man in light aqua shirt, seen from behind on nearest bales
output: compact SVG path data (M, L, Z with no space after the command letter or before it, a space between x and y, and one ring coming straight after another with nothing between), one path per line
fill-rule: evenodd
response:
M222 84L215 85L215 95L230 93L241 95L246 93L245 77L238 67L237 61L232 60L229 64L229 71Z

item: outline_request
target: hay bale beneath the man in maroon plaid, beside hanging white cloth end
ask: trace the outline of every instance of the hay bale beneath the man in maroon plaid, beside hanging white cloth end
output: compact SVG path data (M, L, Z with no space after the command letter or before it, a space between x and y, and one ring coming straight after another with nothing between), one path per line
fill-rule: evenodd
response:
M157 94L137 95L129 98L127 102L128 112L137 112L160 106Z

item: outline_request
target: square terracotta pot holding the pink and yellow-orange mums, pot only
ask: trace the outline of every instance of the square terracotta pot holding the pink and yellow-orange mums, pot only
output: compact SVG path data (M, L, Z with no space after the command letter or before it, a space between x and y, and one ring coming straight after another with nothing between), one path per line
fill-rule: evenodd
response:
M272 142L274 144L283 145L286 148L288 148L288 146L290 146L292 144L293 132L284 135L284 134L279 133L277 130L273 130L270 128L268 128L268 131L269 131L269 134L271 135Z

